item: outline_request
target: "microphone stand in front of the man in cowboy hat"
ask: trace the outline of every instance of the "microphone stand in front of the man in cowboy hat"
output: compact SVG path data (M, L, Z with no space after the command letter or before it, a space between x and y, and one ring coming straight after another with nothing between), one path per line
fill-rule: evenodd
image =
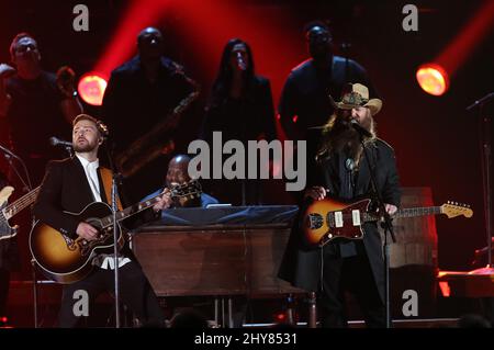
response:
M384 241L383 241L383 251L384 251L384 307L385 307L385 317L386 317L386 328L391 328L391 311L390 311L390 245L388 241L388 233L391 236L393 242L396 242L396 237L394 236L393 224L391 221L390 214L388 214L384 201L382 199L381 193L378 190L375 173L371 167L370 157L367 154L366 145L363 143L363 136L360 134L360 144L363 150L363 157L366 158L367 166L369 167L370 180L372 185L372 191L374 195L374 200L378 202L379 213L382 216L381 227L384 229ZM379 286L378 286L379 289ZM378 290L379 292L379 290Z

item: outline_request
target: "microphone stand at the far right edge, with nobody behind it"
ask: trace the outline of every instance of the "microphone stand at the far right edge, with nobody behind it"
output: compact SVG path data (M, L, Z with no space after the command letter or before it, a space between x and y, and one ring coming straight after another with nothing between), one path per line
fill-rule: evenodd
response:
M494 274L494 267L492 262L492 174L491 174L491 117L483 113L484 104L494 98L494 92L491 92L482 99L473 102L467 108L467 111L479 106L479 115L481 117L480 133L483 137L480 139L480 147L482 154L482 184L484 188L484 216L485 216L485 230L487 236L487 266L478 270L473 270L471 273L476 274Z

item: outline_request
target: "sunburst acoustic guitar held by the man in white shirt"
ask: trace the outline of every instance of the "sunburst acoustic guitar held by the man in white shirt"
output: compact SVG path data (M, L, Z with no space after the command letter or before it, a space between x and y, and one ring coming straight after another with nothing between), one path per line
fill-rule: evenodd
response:
M172 199L198 197L201 195L201 185L198 181L179 184L170 189ZM122 234L120 222L137 214L157 202L161 194L132 205L116 213L119 226L119 249L123 247L125 237ZM75 219L86 222L99 229L99 237L86 240L69 233L61 234L57 229L37 221L31 230L30 249L43 273L59 283L74 283L88 275L93 266L92 260L99 253L113 253L113 213L106 203L93 202L88 204L80 213L69 213ZM71 238L77 237L77 238Z

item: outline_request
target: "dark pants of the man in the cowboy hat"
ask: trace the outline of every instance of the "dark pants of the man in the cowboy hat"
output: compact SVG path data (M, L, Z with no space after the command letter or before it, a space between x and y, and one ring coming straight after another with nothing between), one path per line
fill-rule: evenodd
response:
M323 327L346 328L345 292L351 292L362 311L369 328L385 327L384 303L379 295L363 244L358 242L358 255L341 258L324 252L323 291L318 304Z

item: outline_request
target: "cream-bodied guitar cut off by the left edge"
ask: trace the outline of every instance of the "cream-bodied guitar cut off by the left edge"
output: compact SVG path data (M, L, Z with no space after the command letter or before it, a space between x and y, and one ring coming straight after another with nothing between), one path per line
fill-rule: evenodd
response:
M8 204L9 196L13 191L14 189L10 185L4 187L0 191L0 240L12 238L18 234L16 227L10 226L9 219L34 203L40 192L40 187L24 194L12 204Z

